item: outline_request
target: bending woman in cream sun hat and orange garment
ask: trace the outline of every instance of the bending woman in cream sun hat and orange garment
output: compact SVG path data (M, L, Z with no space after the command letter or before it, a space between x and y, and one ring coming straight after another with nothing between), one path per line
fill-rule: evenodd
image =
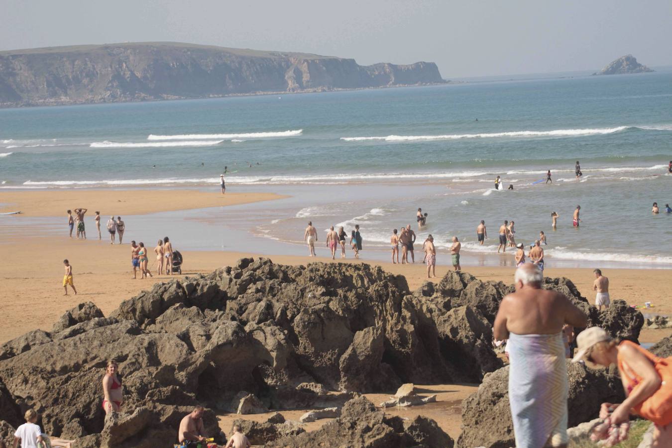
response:
M638 414L655 424L652 447L669 447L672 441L670 386L661 377L669 369L670 359L661 359L640 345L613 339L602 328L593 326L577 336L577 354L573 361L587 361L603 367L618 366L626 399L622 403L602 403L599 418L604 420L593 435L607 435L611 427L630 421Z

